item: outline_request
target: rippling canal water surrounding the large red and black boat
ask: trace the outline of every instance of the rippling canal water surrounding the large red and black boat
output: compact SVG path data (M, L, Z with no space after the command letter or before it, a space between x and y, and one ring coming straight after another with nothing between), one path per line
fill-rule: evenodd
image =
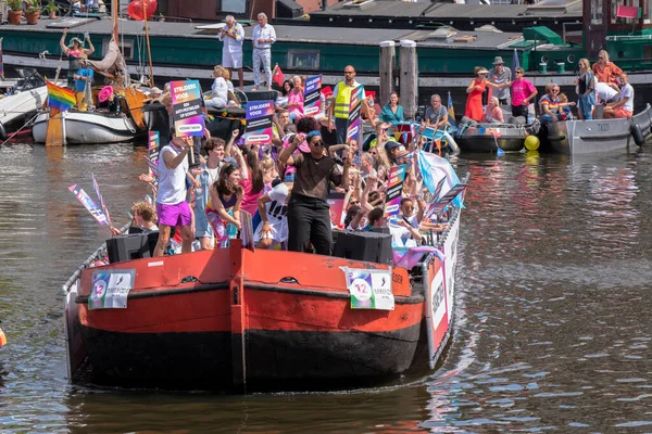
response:
M61 285L109 233L67 189L93 195L95 174L124 224L143 152L0 149L0 432L652 431L651 148L453 158L472 175L460 298L430 375L250 396L72 386Z

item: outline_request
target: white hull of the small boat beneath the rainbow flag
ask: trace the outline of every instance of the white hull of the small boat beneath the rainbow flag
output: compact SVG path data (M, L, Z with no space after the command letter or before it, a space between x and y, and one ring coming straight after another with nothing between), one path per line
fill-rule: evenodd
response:
M37 143L46 142L49 118L43 112L34 120L32 135ZM140 136L134 120L124 114L68 111L63 113L62 124L66 144L125 143Z

